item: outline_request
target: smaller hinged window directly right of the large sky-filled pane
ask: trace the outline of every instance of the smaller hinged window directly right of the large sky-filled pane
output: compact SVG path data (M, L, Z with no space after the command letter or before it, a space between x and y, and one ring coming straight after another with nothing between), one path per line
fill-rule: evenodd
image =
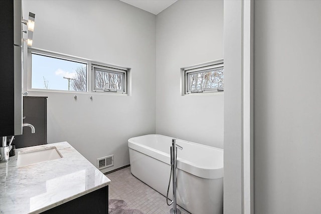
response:
M93 90L127 93L127 70L93 65Z

